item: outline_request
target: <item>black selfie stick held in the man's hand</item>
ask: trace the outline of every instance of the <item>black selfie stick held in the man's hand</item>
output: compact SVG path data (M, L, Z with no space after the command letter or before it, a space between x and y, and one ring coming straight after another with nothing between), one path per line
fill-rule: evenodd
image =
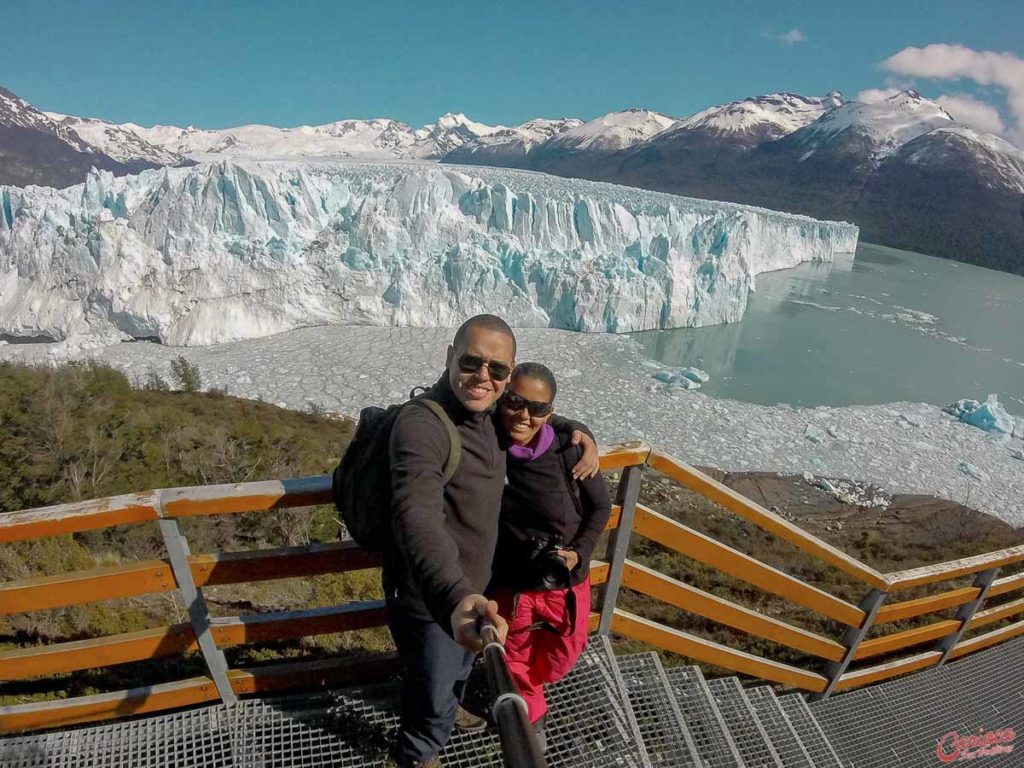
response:
M498 725L506 768L547 768L548 761L529 722L529 708L512 679L498 630L484 622L480 636L484 641L490 712Z

